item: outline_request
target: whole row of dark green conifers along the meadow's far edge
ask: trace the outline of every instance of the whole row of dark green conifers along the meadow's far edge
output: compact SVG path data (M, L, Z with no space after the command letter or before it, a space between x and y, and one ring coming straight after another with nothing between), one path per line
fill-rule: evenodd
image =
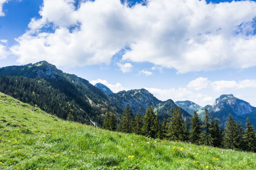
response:
M117 125L114 114L107 109L103 128L151 138L256 152L256 132L249 118L244 128L240 122L229 115L223 130L220 120L210 117L207 109L202 120L195 111L188 123L184 120L179 107L171 108L168 118L164 117L161 122L152 107L148 107L145 114L139 111L134 116L127 104Z

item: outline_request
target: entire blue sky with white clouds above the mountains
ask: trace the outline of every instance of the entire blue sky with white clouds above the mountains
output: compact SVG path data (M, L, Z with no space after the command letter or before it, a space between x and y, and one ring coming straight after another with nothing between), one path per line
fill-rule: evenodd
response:
M1 2L0 67L46 60L114 92L256 106L255 1Z

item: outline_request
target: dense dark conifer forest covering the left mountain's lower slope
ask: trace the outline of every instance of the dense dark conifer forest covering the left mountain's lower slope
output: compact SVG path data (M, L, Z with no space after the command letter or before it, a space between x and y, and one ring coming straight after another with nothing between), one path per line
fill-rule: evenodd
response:
M22 102L38 106L61 119L67 119L69 115L69 119L80 123L90 124L92 120L101 126L103 114L106 112L104 100L101 100L97 93L90 92L90 89L83 88L79 83L72 84L62 79L46 81L42 78L2 76L0 91ZM101 94L100 90L99 94ZM111 107L111 103L108 105L113 111L114 107Z

